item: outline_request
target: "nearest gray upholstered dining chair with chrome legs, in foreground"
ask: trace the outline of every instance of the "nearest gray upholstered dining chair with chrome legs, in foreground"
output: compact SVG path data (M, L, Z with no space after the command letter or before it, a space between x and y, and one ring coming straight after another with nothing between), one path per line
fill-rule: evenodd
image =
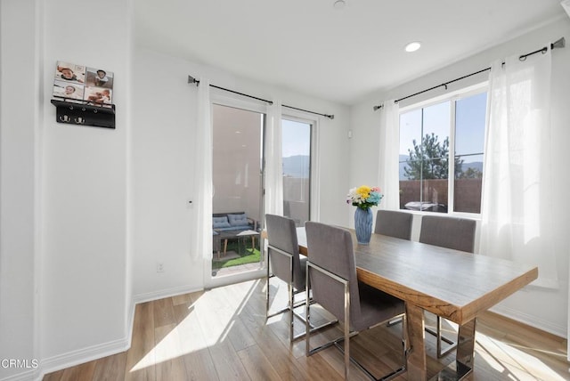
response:
M348 379L350 361L368 376L368 369L350 357L350 336L395 317L402 317L403 365L386 377L395 377L405 371L405 308L402 300L372 288L357 280L352 235L345 229L324 223L305 223L308 261L306 289L311 288L314 303L344 322L344 335L325 345L311 349L311 335L305 340L305 354L310 356L335 345L345 354L345 379ZM311 320L310 304L306 304L306 326ZM351 333L352 329L352 333ZM344 348L340 342L344 341Z

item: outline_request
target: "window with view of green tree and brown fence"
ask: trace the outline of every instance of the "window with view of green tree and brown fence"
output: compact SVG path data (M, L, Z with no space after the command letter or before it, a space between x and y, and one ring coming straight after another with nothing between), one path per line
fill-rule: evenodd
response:
M486 101L487 93L463 93L403 109L401 209L481 212Z

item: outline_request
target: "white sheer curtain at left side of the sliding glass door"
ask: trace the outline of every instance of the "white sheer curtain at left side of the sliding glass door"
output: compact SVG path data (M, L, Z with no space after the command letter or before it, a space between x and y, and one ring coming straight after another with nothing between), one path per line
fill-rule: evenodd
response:
M191 255L194 260L212 259L212 121L210 82L200 78L198 87L198 126L194 155L194 210L196 239Z

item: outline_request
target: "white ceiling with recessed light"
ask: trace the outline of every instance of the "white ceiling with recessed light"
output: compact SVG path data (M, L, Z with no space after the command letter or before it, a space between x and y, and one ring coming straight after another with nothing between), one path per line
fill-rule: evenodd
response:
M133 3L137 45L345 104L566 14L559 0Z

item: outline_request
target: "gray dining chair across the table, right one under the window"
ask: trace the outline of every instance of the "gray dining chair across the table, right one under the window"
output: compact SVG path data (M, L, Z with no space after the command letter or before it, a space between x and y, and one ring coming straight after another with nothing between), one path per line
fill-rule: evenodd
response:
M475 220L424 215L421 218L419 242L473 253L475 231ZM442 318L439 316L436 317L436 330L427 327L426 331L437 337L438 358L450 353L457 346L457 339L453 341L442 335ZM442 341L449 345L445 350L442 350Z

